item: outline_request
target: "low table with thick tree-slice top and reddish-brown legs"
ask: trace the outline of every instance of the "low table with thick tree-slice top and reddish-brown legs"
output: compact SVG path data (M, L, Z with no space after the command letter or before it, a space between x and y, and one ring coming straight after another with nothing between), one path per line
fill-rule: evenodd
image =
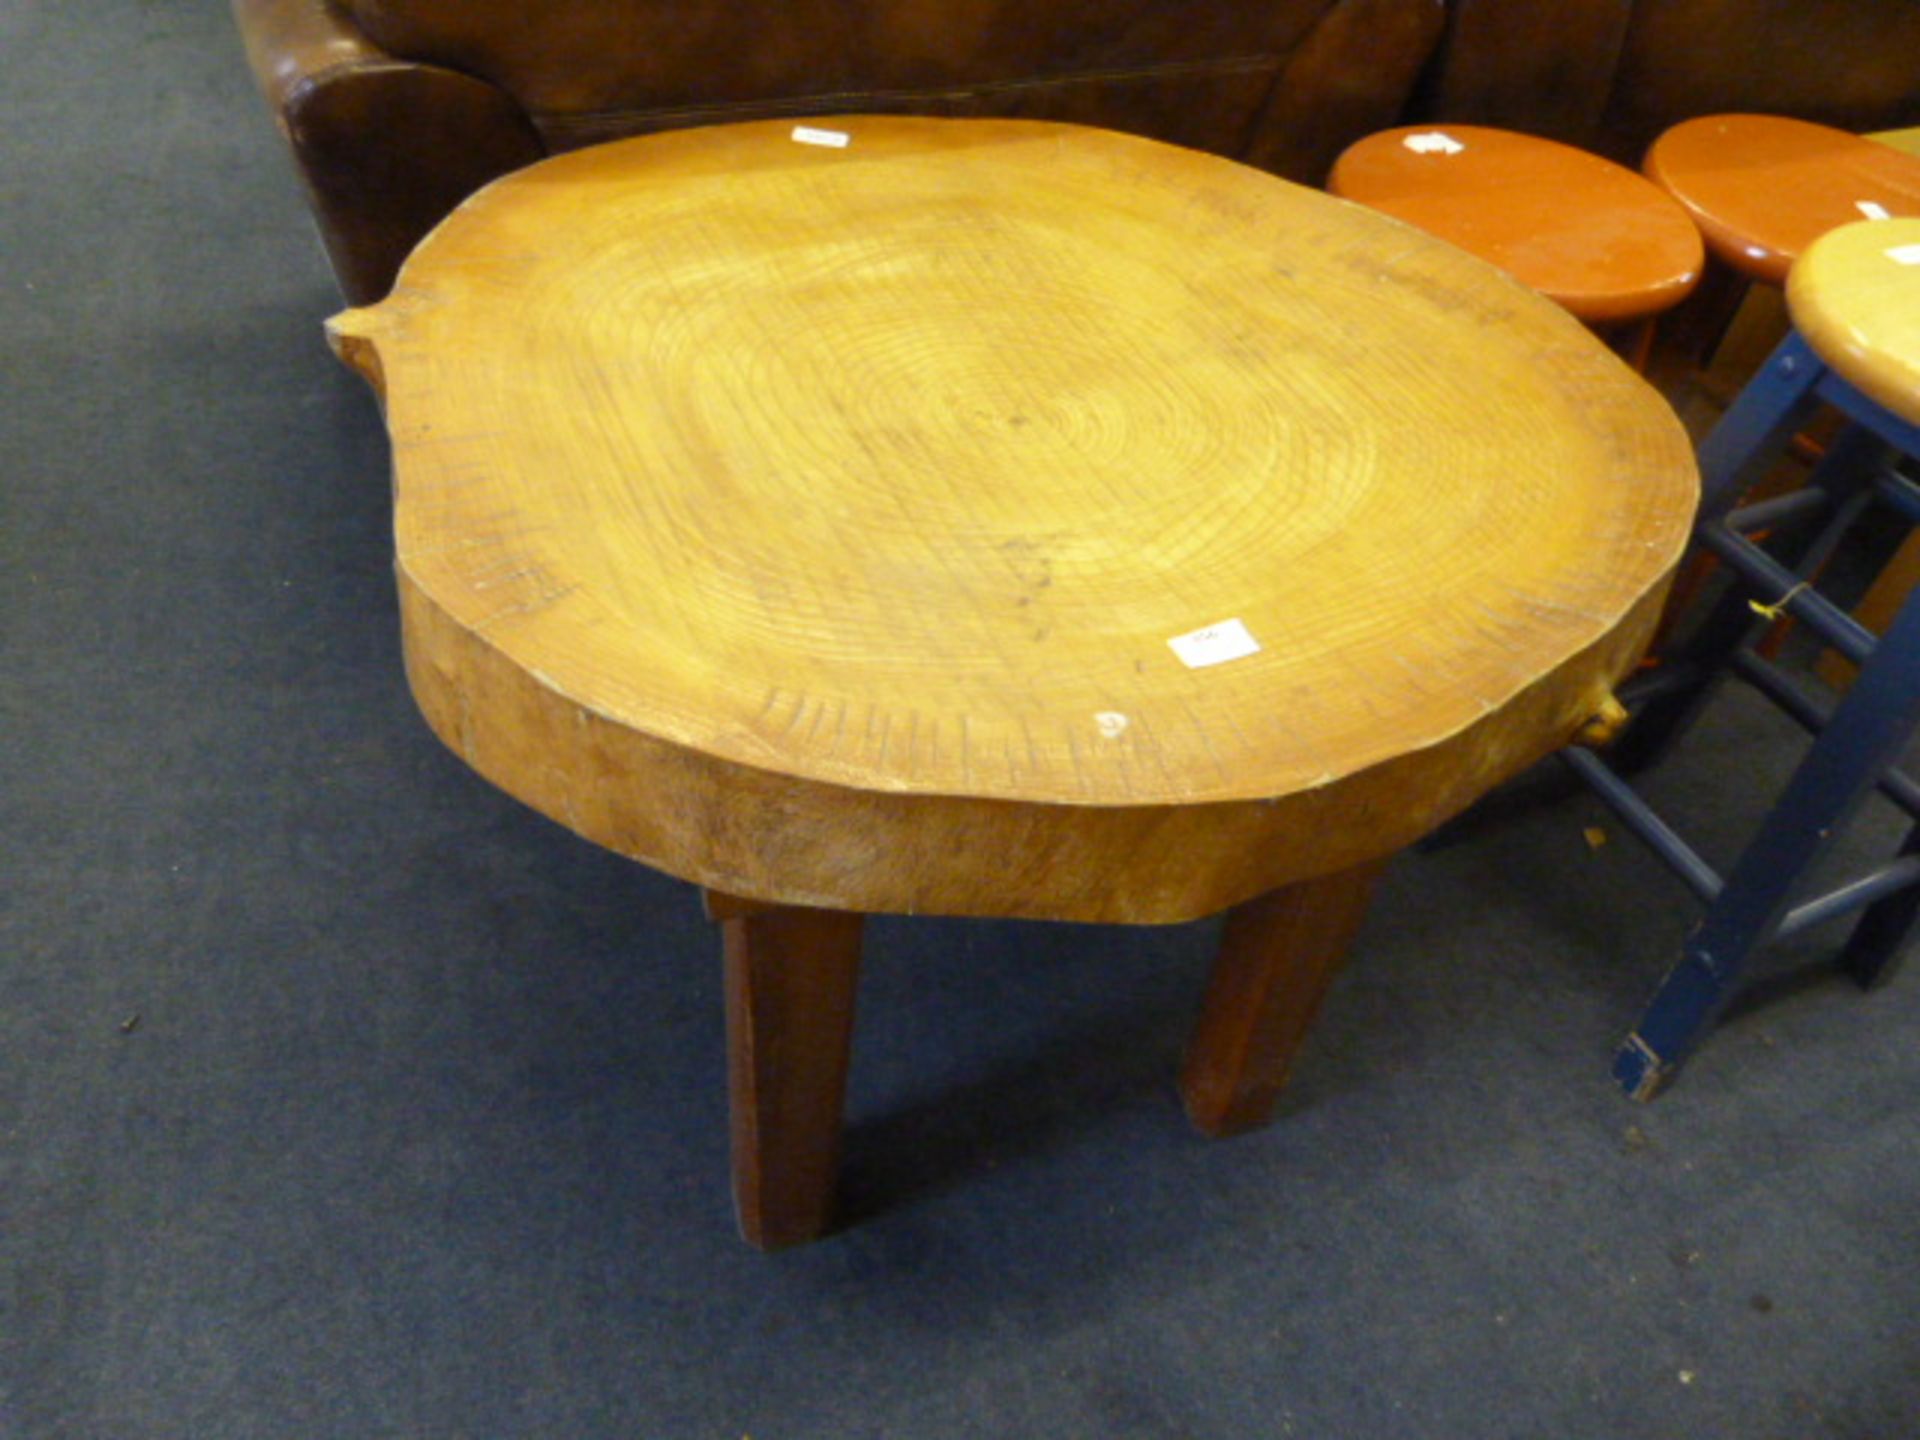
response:
M428 724L708 891L764 1246L829 1221L864 912L1233 908L1183 1091L1260 1123L1379 864L1609 707L1697 484L1494 267L1048 123L563 156L330 334Z

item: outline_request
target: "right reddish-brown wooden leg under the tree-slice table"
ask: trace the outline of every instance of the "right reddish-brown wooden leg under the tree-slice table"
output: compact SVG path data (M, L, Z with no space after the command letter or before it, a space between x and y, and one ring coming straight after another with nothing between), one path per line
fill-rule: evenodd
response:
M1382 866L1286 885L1229 912L1181 1071L1187 1116L1200 1131L1267 1123Z

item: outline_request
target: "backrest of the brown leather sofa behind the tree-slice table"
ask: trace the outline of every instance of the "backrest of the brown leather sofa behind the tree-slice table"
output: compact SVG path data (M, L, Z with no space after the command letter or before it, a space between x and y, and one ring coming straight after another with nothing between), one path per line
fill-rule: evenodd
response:
M403 60L492 81L555 150L670 125L833 109L1041 115L1244 150L1288 58L1336 10L1440 0L342 0ZM1384 15L1394 27L1394 15ZM1402 23L1398 27L1405 31ZM1398 73L1396 73L1398 71ZM1405 94L1409 65L1382 65ZM1365 86L1365 73L1344 75Z

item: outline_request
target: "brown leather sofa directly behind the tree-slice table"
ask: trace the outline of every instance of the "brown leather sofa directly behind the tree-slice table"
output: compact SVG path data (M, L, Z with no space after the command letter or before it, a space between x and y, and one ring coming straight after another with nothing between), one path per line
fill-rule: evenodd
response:
M353 301L543 154L833 111L1108 125L1317 177L1405 108L1440 0L234 0Z

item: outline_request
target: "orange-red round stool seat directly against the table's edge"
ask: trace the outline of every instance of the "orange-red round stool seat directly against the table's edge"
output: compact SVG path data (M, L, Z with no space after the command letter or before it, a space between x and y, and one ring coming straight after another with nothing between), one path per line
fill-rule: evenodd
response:
M1327 188L1471 250L1594 324L1659 315L1699 280L1699 232L1659 186L1517 131L1380 131L1340 156Z

